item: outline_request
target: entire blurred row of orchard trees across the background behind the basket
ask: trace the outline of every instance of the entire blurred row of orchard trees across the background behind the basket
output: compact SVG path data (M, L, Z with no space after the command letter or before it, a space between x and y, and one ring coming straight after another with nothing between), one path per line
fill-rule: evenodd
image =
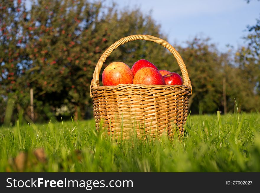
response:
M150 14L139 9L118 10L116 4L85 0L4 0L0 3L0 124L30 119L30 89L35 121L56 117L92 117L90 82L102 53L115 41L149 34L167 41ZM223 53L209 38L194 37L187 46L173 45L189 72L192 114L226 110L260 110L260 20L248 26L248 46ZM134 41L117 48L112 61L129 67L147 59L159 69L181 73L168 50L153 42ZM101 70L101 74L102 71ZM101 75L100 74L100 75ZM101 78L100 78L101 80Z

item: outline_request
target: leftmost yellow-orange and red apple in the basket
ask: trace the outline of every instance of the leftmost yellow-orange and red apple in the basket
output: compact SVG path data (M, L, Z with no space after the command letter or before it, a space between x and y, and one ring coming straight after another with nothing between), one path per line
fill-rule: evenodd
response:
M105 67L102 73L104 86L118 84L133 84L134 75L124 62L112 62Z

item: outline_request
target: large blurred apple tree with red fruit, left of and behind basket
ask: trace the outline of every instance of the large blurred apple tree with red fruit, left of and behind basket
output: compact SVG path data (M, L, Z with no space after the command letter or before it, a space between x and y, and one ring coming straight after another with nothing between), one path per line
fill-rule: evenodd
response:
M64 112L83 118L86 112L92 114L89 86L105 49L132 34L165 38L149 14L138 9L118 11L114 6L84 0L38 0L30 1L28 9L24 0L1 1L0 122L8 101L14 103L14 118L19 112L30 115L31 88L37 120L59 113L64 116ZM159 63L167 53L160 45L151 45L129 42L109 56L103 69L112 61L131 67L137 58Z

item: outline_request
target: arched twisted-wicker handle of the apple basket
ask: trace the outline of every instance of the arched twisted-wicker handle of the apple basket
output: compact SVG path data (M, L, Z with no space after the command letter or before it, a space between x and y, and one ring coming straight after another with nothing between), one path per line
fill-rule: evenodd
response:
M105 62L105 60L108 58L108 56L116 48L123 45L124 43L131 42L131 41L134 41L134 40L152 41L152 42L158 43L158 44L162 45L163 47L167 48L170 51L170 53L172 53L173 56L176 58L177 63L179 65L179 67L181 68L181 74L183 76L183 84L186 85L186 86L189 86L191 88L191 93L192 93L191 80L189 78L186 66L185 66L180 54L177 52L177 50L175 48L173 48L172 45L170 45L168 42L166 42L163 39L160 39L158 37L151 36L151 35L130 35L130 36L127 36L127 37L123 37L120 40L113 43L111 46L108 47L107 50L105 50L105 52L99 58L97 66L96 66L95 71L93 73L93 79L92 79L91 84L90 84L90 96L91 96L91 98L93 98L93 96L91 94L91 87L99 86L99 74L100 74L102 65Z

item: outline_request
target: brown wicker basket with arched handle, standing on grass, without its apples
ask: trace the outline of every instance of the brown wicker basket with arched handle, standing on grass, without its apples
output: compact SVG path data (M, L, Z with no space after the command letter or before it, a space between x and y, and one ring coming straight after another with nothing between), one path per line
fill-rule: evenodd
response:
M106 58L117 47L134 40L148 40L167 48L181 68L184 85L99 86L99 74ZM131 35L111 45L98 60L90 85L96 127L106 128L116 138L183 134L191 93L191 81L179 53L165 40L150 35Z

